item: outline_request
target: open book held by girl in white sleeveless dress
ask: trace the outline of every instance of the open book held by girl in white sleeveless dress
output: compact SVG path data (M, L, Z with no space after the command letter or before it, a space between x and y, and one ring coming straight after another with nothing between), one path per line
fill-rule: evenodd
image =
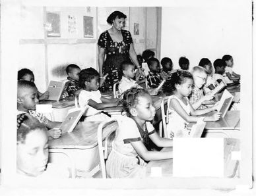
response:
M226 115L226 112L228 111L233 99L234 96L227 89L225 89L217 108L217 111L222 113L222 118L224 118Z

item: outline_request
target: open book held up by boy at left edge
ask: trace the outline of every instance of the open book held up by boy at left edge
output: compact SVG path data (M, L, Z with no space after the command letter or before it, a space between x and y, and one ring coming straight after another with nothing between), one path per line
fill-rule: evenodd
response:
M73 132L82 114L84 114L84 110L85 107L76 107L69 110L67 116L65 117L65 120L63 120L60 126L62 134Z

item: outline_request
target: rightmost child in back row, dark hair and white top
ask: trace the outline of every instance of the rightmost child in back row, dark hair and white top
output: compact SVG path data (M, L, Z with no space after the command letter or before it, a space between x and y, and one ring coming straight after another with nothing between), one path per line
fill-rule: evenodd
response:
M240 80L240 74L236 74L236 72L232 70L234 64L232 56L224 55L222 60L226 62L225 74L227 78L224 77L226 78L226 83L238 82L238 80Z

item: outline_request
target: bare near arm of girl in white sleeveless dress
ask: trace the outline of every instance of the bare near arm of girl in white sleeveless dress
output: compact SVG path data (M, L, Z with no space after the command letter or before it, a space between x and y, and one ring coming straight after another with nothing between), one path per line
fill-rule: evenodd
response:
M186 122L197 122L197 120L199 120L198 116L190 116L189 114L187 114L187 112L181 107L181 105L179 104L179 101L177 101L177 99L171 99L170 101L170 106L176 110L177 114L179 114L179 116L181 116L181 118L183 118ZM195 112L195 110L193 110L193 107L191 107L192 112ZM213 114L212 116L205 116L204 121L217 121L218 119L220 119L220 113L216 112L215 114ZM172 123L172 122L170 122Z

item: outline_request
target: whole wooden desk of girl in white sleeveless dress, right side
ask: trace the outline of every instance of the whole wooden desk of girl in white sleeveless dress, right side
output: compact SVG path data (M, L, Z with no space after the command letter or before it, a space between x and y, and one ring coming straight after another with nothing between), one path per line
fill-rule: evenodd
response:
M207 114L210 115L213 112ZM171 122L170 122L171 123ZM191 128L195 124L189 123L188 128ZM215 122L207 122L205 125L204 137L231 137L240 139L240 111L228 110L224 118Z

